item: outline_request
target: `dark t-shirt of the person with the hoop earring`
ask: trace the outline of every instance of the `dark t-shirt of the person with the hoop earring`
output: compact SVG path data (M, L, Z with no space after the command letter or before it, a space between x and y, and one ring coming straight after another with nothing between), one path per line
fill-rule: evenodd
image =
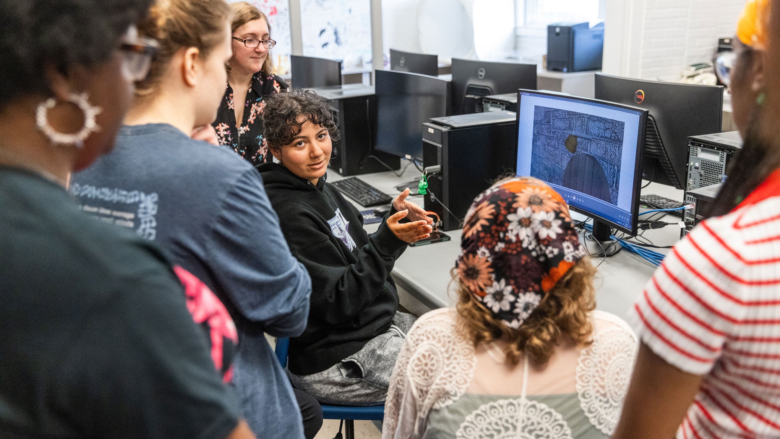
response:
M219 377L158 246L0 166L0 437L224 439Z

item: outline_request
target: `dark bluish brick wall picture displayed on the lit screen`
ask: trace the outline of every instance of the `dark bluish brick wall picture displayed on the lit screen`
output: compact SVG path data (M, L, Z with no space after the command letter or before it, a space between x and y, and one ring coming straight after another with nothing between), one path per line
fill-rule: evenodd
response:
M620 120L537 105L531 177L617 205L624 127Z

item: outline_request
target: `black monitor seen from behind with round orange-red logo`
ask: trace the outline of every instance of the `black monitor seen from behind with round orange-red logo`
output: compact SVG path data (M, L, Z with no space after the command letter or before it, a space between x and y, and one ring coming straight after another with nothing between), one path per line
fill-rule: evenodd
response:
M721 132L723 87L596 73L596 96L650 111L642 178L686 188L688 137Z

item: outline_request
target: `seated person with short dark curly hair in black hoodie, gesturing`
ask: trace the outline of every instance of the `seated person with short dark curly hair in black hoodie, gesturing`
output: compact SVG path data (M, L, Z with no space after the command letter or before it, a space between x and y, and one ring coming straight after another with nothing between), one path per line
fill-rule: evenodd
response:
M398 312L390 272L407 244L429 236L433 221L406 201L406 189L379 230L363 230L360 212L325 182L336 125L314 91L271 96L263 123L279 163L258 169L290 250L312 279L307 328L290 341L290 377L320 402L380 404L414 321Z

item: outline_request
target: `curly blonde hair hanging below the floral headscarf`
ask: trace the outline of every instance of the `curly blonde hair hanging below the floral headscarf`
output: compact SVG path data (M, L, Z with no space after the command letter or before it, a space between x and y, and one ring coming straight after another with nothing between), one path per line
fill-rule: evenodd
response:
M506 341L505 355L516 366L523 355L528 355L537 366L547 364L555 347L564 341L579 346L590 344L593 324L590 312L596 309L596 290L593 278L596 269L587 257L580 259L558 280L555 287L517 329L506 326L471 292L459 283L453 269L453 280L458 283L458 327L477 347L491 341Z

